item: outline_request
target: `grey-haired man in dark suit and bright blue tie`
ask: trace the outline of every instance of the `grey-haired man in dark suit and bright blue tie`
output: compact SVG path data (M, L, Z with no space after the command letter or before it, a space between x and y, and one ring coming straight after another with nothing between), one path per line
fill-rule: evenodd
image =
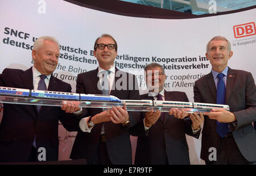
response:
M230 108L230 111L213 109L205 113L208 116L202 131L201 158L206 164L255 164L256 161L256 134L252 125L256 121L255 83L250 72L228 67L232 55L225 37L213 37L206 53L212 72L197 80L194 86L195 102L218 104L222 99Z

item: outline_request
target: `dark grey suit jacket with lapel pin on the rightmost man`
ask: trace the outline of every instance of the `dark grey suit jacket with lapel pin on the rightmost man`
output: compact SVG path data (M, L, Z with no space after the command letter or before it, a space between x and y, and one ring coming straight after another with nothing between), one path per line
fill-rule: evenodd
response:
M252 125L256 121L256 88L251 73L229 68L225 98L237 118L237 126L229 123L234 140L247 161L256 161L256 134ZM211 72L195 82L194 99L195 102L216 104L216 86ZM209 148L217 149L220 143L216 122L205 116L201 145L201 158L205 161L209 161Z

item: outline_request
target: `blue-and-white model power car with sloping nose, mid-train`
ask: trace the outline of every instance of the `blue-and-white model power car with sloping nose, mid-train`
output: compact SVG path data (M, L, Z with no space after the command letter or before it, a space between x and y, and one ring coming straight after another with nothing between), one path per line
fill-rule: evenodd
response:
M93 95L93 94L80 94L81 101L106 101L106 102L122 102L119 98L113 95Z

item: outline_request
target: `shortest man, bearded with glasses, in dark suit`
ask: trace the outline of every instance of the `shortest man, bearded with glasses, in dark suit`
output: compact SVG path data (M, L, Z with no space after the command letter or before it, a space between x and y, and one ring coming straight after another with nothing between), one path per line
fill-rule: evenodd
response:
M164 90L166 75L161 65L151 63L144 70L149 92L141 96L142 100L188 102L184 92ZM184 111L177 114L174 110L170 114L141 113L141 121L131 130L132 135L138 136L135 164L190 164L185 134L199 138L203 114L193 123L189 118L184 119L188 115Z

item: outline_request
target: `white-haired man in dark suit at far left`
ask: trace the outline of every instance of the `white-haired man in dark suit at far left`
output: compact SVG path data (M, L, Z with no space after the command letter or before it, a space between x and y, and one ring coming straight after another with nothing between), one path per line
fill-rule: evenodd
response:
M71 85L52 76L59 58L55 38L38 38L32 58L34 66L26 71L5 68L0 74L0 86L71 92ZM79 107L66 105L63 109L73 112ZM59 107L4 104L0 162L58 160L58 124L65 116L67 114Z

